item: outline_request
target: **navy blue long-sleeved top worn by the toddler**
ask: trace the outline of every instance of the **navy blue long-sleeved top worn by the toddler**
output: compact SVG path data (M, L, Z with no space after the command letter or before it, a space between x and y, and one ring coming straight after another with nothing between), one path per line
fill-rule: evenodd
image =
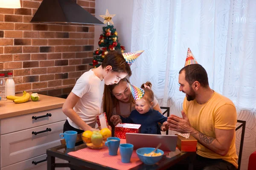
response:
M122 116L120 117L123 123L140 124L140 133L147 134L159 134L160 130L158 122L163 124L163 122L167 121L167 117L163 116L161 113L153 109L150 109L145 114L140 114L138 111L134 110L131 112L128 118L124 118Z

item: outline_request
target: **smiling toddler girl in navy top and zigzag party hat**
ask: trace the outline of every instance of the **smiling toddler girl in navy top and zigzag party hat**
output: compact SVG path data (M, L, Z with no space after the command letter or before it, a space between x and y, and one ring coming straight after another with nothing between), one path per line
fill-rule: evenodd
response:
M142 88L138 88L134 85L129 84L131 93L135 99L135 109L131 112L128 118L119 115L111 116L111 122L114 125L119 122L123 123L134 123L141 125L141 133L148 134L161 134L158 130L158 122L163 124L167 121L167 117L163 116L158 111L152 109L154 104L154 92L151 90L151 83L146 82L142 85ZM163 131L166 131L168 127L163 127Z

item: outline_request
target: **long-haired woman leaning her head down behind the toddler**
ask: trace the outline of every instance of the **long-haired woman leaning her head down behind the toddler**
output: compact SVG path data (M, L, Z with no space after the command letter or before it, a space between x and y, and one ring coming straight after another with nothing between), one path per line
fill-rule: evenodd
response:
M127 84L128 82L128 79L123 78L119 83L105 85L104 88L103 111L107 114L107 119L112 127L112 131L114 130L114 125L110 121L112 115L117 114L122 115L123 117L128 117L130 116L131 111L135 110L135 102ZM153 109L162 113L156 98L154 98ZM161 130L163 127L161 126Z

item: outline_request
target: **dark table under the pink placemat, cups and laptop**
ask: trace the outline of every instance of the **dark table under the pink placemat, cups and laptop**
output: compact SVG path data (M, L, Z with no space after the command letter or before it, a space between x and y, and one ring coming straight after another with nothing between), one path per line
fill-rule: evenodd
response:
M47 170L55 170L56 167L70 167L75 170L115 170L111 167L105 167L101 164L96 164L93 162L85 161L74 156L70 156L67 153L77 151L85 148L85 144L80 144L73 149L67 149L65 145L59 145L57 147L52 147L47 150ZM179 163L184 159L189 159L189 170L192 170L193 161L195 159L196 152L180 152L176 149L175 152L170 152L155 165L140 164L137 167L132 168L132 170L165 170L173 165ZM55 158L64 159L69 161L69 163L55 163Z

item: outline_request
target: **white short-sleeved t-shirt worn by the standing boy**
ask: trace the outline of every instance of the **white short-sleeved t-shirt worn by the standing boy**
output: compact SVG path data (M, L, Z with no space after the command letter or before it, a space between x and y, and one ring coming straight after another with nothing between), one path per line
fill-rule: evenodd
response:
M99 79L90 69L81 75L72 90L76 96L80 97L73 108L74 111L93 128L96 125L96 116L101 112L104 85L104 79ZM67 118L67 121L71 126L80 129L70 118Z

